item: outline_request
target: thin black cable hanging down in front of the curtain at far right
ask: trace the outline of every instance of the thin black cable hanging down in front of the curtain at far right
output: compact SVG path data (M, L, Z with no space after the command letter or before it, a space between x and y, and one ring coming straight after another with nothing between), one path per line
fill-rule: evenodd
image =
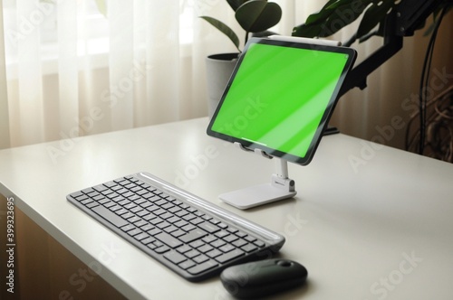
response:
M431 63L434 54L434 46L439 33L440 23L447 14L448 8L444 7L442 13L439 16L437 23L435 24L431 38L429 39L428 49L423 63L423 70L421 72L421 80L419 87L419 122L420 122L420 137L419 137L419 155L423 155L424 145L426 139L426 108L428 102L428 88L429 88L429 70L431 70Z

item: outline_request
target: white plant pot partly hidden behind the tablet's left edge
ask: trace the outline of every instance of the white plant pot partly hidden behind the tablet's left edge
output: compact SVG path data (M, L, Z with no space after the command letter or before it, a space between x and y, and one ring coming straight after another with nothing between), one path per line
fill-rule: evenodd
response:
M226 84L236 67L239 53L223 53L207 56L207 111L212 117L222 98Z

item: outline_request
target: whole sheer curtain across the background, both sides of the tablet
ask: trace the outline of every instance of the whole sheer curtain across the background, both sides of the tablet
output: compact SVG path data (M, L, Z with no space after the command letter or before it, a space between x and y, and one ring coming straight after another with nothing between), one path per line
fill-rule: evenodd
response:
M207 116L205 58L235 47L198 16L228 23L243 38L225 0L2 1L0 147ZM284 14L273 30L289 35L326 1L275 2ZM436 68L447 66L451 74L451 26L443 27ZM334 38L345 41L352 32ZM333 125L373 139L392 117L406 121L413 110L403 103L418 93L427 42L421 32L405 39L403 51L371 75L368 89L341 99ZM354 45L359 61L380 44ZM403 140L398 129L383 142L402 147Z

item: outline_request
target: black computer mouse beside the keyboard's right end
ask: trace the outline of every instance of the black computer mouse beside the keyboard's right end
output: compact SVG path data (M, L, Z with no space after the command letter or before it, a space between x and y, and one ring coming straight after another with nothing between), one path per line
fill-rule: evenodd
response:
M237 298L260 298L302 286L308 272L301 264L273 258L226 268L220 280Z

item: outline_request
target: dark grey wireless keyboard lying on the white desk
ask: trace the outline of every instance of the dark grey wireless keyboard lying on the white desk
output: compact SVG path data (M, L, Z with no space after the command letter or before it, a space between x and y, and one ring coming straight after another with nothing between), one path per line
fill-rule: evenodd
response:
M284 244L282 235L149 173L72 192L67 200L193 282L269 258Z

